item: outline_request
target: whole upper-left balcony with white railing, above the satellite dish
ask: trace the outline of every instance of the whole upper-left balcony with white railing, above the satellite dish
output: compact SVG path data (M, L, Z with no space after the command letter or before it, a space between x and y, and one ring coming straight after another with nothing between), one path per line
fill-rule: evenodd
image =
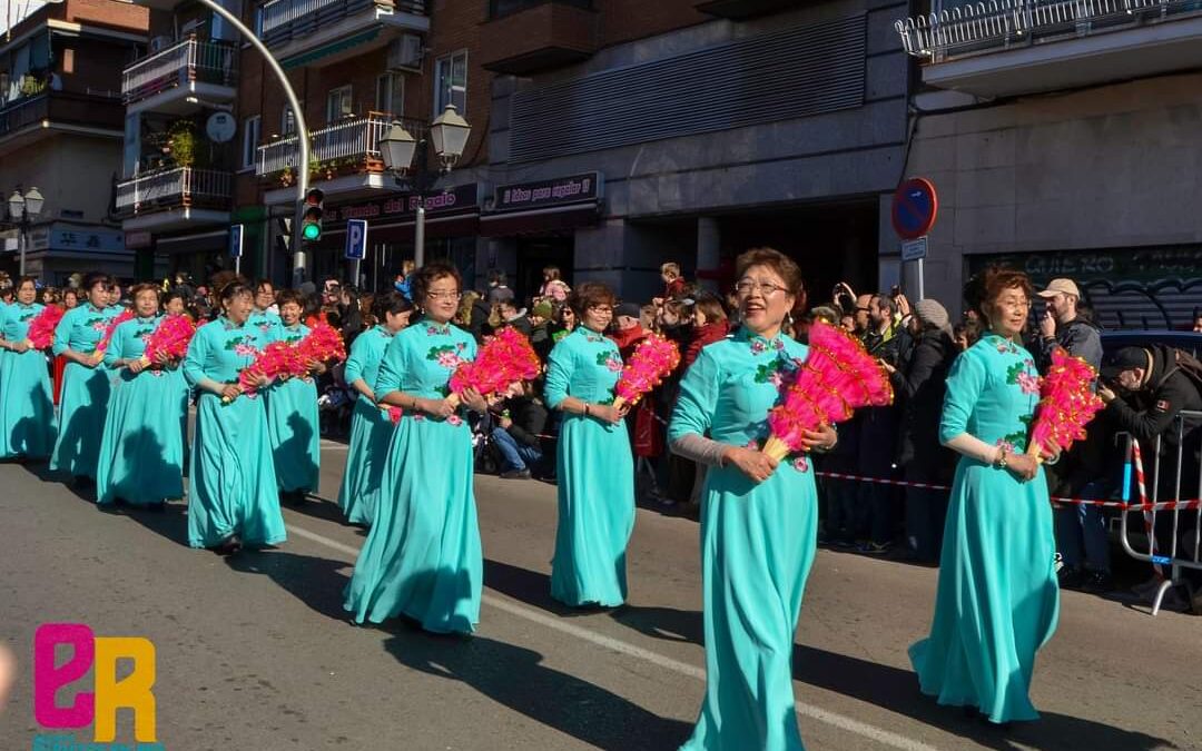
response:
M238 48L196 38L143 58L121 72L121 97L131 114L186 114L196 100L233 102L237 85Z

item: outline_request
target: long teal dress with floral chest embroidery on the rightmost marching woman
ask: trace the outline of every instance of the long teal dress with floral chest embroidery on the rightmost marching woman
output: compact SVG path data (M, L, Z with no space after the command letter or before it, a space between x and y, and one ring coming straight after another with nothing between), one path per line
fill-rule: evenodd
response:
M1039 401L1031 356L988 335L957 358L940 424L946 442L968 433L1016 453L1027 448ZM976 707L993 722L1035 720L1028 691L1035 652L1059 615L1052 506L1043 471L962 457L940 555L930 636L910 648L922 692Z

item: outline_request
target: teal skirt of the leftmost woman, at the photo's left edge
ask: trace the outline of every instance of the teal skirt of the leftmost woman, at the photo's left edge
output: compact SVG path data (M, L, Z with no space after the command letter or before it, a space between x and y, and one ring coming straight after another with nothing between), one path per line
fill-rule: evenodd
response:
M49 457L58 424L46 354L0 354L0 459Z

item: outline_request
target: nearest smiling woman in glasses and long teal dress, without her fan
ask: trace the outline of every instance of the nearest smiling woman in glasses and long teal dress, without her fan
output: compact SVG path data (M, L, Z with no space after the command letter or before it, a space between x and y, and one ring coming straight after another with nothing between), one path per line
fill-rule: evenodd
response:
M758 451L781 380L807 347L781 332L802 288L797 264L772 249L738 258L743 327L704 348L680 382L668 440L708 466L701 556L706 697L689 751L798 751L793 632L817 544L817 494L805 453ZM829 449L831 428L808 433Z

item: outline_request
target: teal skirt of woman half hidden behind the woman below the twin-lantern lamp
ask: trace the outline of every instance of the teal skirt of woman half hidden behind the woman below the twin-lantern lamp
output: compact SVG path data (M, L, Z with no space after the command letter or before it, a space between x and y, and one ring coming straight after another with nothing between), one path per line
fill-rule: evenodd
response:
M394 431L387 412L365 397L355 400L346 471L338 491L338 506L351 524L370 526L375 520L385 459Z

